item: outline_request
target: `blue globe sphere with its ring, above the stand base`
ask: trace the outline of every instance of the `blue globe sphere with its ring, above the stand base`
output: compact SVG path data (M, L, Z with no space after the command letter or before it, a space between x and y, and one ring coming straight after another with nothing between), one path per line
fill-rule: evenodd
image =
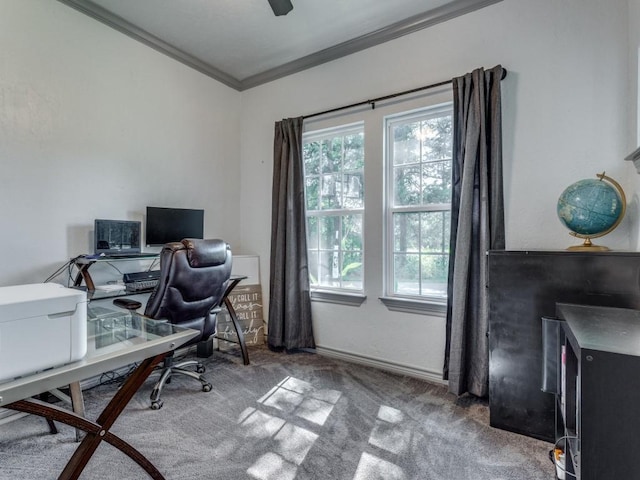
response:
M623 214L618 190L602 179L580 180L569 185L558 199L560 221L581 237L608 233Z

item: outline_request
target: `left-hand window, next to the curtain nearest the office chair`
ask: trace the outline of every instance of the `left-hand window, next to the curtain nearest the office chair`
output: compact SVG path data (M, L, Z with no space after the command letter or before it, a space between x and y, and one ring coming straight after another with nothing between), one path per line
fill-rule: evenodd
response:
M362 291L364 125L306 133L303 158L311 287Z

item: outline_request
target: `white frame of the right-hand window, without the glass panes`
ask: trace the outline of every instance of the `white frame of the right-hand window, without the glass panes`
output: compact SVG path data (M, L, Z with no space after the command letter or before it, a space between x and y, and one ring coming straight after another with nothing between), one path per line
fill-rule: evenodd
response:
M410 295L406 293L395 293L393 285L395 283L395 236L394 236L394 213L422 213L451 211L451 201L447 203L398 206L394 205L394 178L395 170L393 164L392 150L394 146L391 135L392 127L399 122L410 123L412 120L427 120L444 115L454 117L453 102L447 101L417 109L406 110L384 116L384 295L380 300L390 310L408 313L428 313L444 314L447 304L447 295ZM453 132L452 132L453 135ZM453 155L453 152L452 152ZM453 158L451 158L453 162ZM450 231L450 230L449 230ZM446 233L446 232L445 232ZM447 239L448 242L448 239Z

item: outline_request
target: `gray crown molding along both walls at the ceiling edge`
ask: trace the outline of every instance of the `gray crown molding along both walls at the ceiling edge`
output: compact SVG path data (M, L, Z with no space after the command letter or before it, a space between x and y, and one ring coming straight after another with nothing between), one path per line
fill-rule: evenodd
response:
M58 0L75 10L137 40L154 50L183 63L238 91L248 90L259 85L278 80L279 78L301 72L318 65L351 55L374 47L390 40L451 20L475 10L488 7L503 0L457 0L435 8L424 14L415 15L388 27L376 30L367 35L348 40L333 47L320 50L279 67L252 75L242 80L237 79L214 66L168 44L158 37L114 15L90 0Z

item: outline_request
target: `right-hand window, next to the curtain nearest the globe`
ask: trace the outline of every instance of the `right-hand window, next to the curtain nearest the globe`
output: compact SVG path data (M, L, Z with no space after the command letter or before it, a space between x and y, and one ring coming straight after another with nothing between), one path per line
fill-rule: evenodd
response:
M387 294L447 296L452 107L386 119Z

